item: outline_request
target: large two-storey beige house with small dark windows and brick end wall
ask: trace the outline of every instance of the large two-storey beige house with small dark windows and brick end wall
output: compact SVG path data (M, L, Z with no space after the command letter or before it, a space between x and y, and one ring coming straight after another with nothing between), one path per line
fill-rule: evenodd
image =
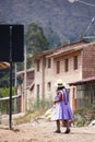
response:
M95 76L95 42L85 40L43 51L29 58L35 62L34 97L52 98L57 79L70 84ZM70 105L76 109L76 86L70 86Z

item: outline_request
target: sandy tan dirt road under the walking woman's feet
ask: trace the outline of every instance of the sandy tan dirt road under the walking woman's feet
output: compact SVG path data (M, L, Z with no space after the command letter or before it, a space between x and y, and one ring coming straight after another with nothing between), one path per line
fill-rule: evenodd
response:
M44 119L14 126L13 130L0 127L0 142L95 142L95 127L71 128L70 134L54 133L55 121Z

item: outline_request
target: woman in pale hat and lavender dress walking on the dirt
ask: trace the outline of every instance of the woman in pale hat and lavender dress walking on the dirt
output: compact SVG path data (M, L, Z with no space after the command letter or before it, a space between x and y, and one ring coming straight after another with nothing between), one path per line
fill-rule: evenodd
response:
M64 133L70 133L69 120L72 120L73 115L69 104L69 93L64 87L64 84L61 79L56 83L57 92L54 98L55 111L51 115L51 120L56 121L57 130L56 133L60 133L60 120L66 122Z

